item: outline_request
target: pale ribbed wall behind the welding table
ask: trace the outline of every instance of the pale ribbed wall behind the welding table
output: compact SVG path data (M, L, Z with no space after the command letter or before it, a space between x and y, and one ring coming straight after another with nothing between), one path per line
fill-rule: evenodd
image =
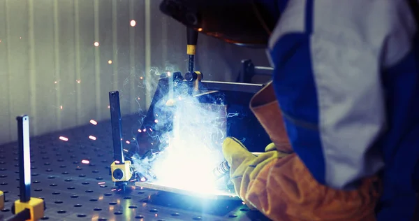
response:
M108 92L122 113L146 110L156 73L186 69L186 30L157 0L0 0L0 143L108 119ZM135 20L135 26L131 25ZM96 45L95 45L96 43ZM205 80L235 80L241 59L267 66L264 50L199 36Z

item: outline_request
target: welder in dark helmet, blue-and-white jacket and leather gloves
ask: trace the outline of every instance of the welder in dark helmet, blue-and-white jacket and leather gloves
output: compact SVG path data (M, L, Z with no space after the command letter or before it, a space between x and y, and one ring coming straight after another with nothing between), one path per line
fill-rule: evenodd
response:
M223 143L241 199L272 220L411 220L419 189L418 1L166 0L203 34L265 45L250 107L272 144Z

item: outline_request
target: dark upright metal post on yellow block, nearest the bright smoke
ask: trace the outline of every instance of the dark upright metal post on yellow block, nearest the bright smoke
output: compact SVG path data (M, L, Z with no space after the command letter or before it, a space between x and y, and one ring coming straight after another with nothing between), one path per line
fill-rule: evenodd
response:
M112 141L116 164L124 164L124 149L122 146L122 120L119 106L119 92L109 92L110 122L112 124Z

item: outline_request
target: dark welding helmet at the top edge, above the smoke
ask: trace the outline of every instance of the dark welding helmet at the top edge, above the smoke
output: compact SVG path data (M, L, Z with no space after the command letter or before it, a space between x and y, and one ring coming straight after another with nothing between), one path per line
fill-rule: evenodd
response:
M208 36L228 43L265 47L279 19L277 1L163 0L160 10Z

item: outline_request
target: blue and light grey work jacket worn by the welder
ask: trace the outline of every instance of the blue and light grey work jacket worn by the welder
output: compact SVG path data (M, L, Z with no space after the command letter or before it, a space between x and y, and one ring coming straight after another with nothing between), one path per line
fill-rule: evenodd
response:
M419 187L418 27L407 0L260 0L293 149L319 183L380 173L378 220L411 220Z

